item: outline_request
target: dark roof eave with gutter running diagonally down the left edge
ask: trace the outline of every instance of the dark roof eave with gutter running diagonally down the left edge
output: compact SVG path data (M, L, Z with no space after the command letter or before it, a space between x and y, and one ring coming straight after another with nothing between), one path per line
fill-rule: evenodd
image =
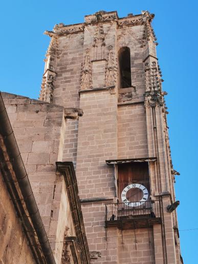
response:
M5 98L28 99L27 97L4 93ZM16 102L15 102L16 104ZM12 127L0 93L0 177L10 194L21 229L25 233L36 263L55 264L46 231L34 199L28 174L21 159ZM13 209L14 209L13 208ZM12 210L12 208L9 208ZM16 241L17 243L17 241Z

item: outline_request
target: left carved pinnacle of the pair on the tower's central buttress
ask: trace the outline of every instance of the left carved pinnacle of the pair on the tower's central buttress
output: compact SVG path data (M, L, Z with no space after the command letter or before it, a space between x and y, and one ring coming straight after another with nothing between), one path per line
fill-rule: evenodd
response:
M92 65L89 49L86 50L84 62L82 63L80 90L92 88Z

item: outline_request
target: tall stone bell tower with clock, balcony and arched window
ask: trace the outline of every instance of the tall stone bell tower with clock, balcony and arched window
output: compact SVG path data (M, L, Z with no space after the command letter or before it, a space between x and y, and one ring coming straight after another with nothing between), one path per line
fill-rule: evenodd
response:
M56 25L40 100L83 110L67 121L93 263L183 263L154 15L116 11Z

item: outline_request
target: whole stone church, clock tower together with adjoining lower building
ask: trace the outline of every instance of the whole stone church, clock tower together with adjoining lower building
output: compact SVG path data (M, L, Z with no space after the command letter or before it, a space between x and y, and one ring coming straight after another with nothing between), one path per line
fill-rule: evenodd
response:
M2 94L56 263L183 263L153 17L56 25L39 100Z

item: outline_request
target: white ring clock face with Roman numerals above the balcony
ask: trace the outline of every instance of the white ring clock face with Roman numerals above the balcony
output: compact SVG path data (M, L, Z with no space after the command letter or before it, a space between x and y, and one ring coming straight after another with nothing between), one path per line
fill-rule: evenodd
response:
M127 199L127 192L133 188L138 188L139 191L143 194L143 197L140 201L130 202ZM125 203L127 206L135 207L144 204L148 199L148 190L145 186L139 183L131 183L130 185L126 186L122 193L121 193L122 202Z

